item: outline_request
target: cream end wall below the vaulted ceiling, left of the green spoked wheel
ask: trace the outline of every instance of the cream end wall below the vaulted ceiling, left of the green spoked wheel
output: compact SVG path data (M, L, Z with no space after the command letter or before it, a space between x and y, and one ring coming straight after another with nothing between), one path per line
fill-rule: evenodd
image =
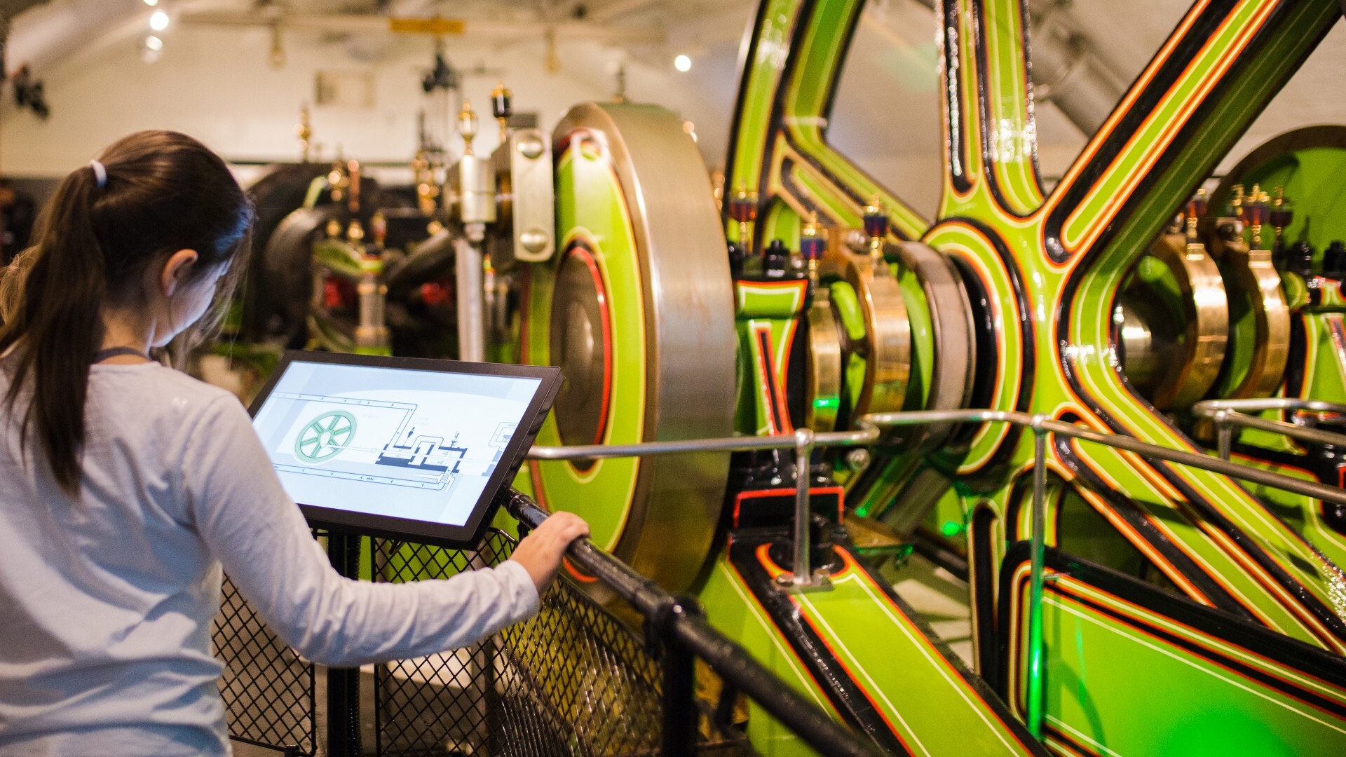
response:
M401 162L415 152L416 113L424 106L420 79L433 53L429 38L374 36L353 44L288 32L288 61L281 70L268 65L271 32L264 28L178 26L168 30L164 42L163 57L155 63L140 59L139 36L132 36L86 48L39 71L51 105L47 121L17 112L7 90L0 106L0 172L62 175L113 140L145 128L187 132L232 159L296 160L299 108L312 100L318 70L371 71L378 86L370 109L312 109L314 140L322 143L324 158L332 158L336 145L346 158L362 160ZM371 59L351 58L347 51L353 47ZM498 78L513 89L516 110L537 112L548 129L572 105L612 97L611 62L619 51L563 42L559 54L563 69L551 74L542 63L541 40L502 46L450 39L448 57L456 67L470 70L481 62L501 69L499 74L468 75L464 82L464 94L483 114L479 150L495 143L487 94ZM670 61L657 59L661 65L627 62L630 98L658 102L695 120L703 151L716 166L723 162L738 78L732 55L720 55L719 70L708 63L692 74L680 74ZM723 86L699 86L705 77Z

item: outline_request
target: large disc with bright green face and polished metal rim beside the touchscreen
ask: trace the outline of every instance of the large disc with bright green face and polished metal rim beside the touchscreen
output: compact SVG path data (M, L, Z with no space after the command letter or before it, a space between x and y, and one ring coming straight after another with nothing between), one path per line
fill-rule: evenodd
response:
M553 140L557 255L528 267L522 341L528 362L563 368L565 388L538 443L731 435L732 277L696 144L669 110L627 104L579 105ZM711 552L728 455L534 462L532 477L544 505L684 590Z

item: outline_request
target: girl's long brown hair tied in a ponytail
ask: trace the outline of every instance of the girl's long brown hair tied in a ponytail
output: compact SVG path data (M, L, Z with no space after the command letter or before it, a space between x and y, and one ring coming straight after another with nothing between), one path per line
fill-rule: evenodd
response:
M0 352L15 352L7 361L5 405L13 412L31 384L24 445L35 428L57 482L71 494L79 490L89 365L102 343L102 308L139 304L147 269L179 249L197 251L192 279L236 263L253 218L225 162L190 136L137 132L105 150L100 163L106 171L101 187L92 164L78 168L38 217L34 246L17 280L7 282L13 299L0 327ZM222 295L244 268L230 265Z

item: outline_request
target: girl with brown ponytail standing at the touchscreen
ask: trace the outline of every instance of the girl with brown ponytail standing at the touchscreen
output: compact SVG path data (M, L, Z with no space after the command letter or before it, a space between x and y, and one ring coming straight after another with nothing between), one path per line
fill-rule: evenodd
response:
M221 567L300 655L358 665L530 616L587 533L559 513L495 568L339 577L233 395L147 357L219 312L252 220L219 156L139 132L66 176L0 275L0 757L227 754Z

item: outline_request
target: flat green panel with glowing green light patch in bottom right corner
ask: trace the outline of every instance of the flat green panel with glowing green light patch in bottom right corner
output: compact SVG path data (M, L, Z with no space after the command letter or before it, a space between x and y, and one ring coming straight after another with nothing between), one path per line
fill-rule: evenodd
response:
M1020 607L1026 593L1020 583ZM1084 582L1049 582L1043 630L1047 744L1062 753L1075 753L1066 739L1086 754L1121 757L1346 753L1346 722L1257 676L1337 706L1346 691ZM1023 636L1016 644L1022 649ZM1213 649L1214 659L1193 648Z

